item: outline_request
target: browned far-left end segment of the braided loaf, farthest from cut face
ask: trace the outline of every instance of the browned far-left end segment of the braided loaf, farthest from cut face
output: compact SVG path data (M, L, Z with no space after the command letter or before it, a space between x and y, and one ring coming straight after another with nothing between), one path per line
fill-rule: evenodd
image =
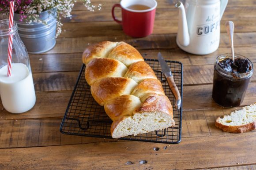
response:
M110 51L117 46L117 42L102 41L88 46L83 51L82 60L87 64L93 58L107 58Z

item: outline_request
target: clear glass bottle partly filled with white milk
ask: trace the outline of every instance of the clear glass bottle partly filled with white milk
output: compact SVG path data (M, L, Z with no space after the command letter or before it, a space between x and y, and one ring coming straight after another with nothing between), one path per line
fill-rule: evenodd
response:
M17 24L0 20L0 96L8 112L22 113L33 108L36 96L29 56L18 34ZM8 36L13 36L11 76L8 72Z

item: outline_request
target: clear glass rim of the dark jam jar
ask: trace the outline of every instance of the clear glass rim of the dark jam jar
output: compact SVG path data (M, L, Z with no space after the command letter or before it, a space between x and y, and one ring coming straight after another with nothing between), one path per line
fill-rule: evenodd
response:
M225 54L219 55L219 56L216 58L216 61L215 61L216 67L217 67L218 69L222 70L222 72L221 72L222 75L228 76L228 77L233 77L233 78L236 78L236 79L237 79L237 78L241 78L241 79L242 79L242 78L246 78L247 76L251 76L252 73L253 73L253 63L252 63L252 61L251 61L249 58L246 58L245 56L243 56L243 55L241 55L241 54L235 53L234 55L235 55L235 58L245 58L245 59L247 59L247 60L249 61L250 66L252 67L252 69L251 69L249 72L245 72L245 73L233 73L233 72L228 72L228 71L222 69L222 68L218 65L219 59L220 59L221 57L223 57L223 59L224 59L224 57L225 57L225 58L232 58L232 54L230 54L230 53L225 53Z

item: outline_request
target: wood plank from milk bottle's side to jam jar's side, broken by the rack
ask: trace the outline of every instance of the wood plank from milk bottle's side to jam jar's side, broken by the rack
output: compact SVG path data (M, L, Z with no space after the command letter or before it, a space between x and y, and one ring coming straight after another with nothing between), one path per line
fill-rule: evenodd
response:
M183 84L209 84L213 83L213 65L194 65L183 67ZM73 90L79 72L48 72L34 73L34 87L38 92ZM251 81L256 80L252 75Z

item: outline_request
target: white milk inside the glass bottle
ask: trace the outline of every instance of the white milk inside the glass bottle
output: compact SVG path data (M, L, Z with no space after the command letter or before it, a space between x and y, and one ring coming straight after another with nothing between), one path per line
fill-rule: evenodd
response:
M26 65L13 63L11 77L6 73L7 65L0 69L0 95L4 109L20 113L33 108L36 101L34 83Z

